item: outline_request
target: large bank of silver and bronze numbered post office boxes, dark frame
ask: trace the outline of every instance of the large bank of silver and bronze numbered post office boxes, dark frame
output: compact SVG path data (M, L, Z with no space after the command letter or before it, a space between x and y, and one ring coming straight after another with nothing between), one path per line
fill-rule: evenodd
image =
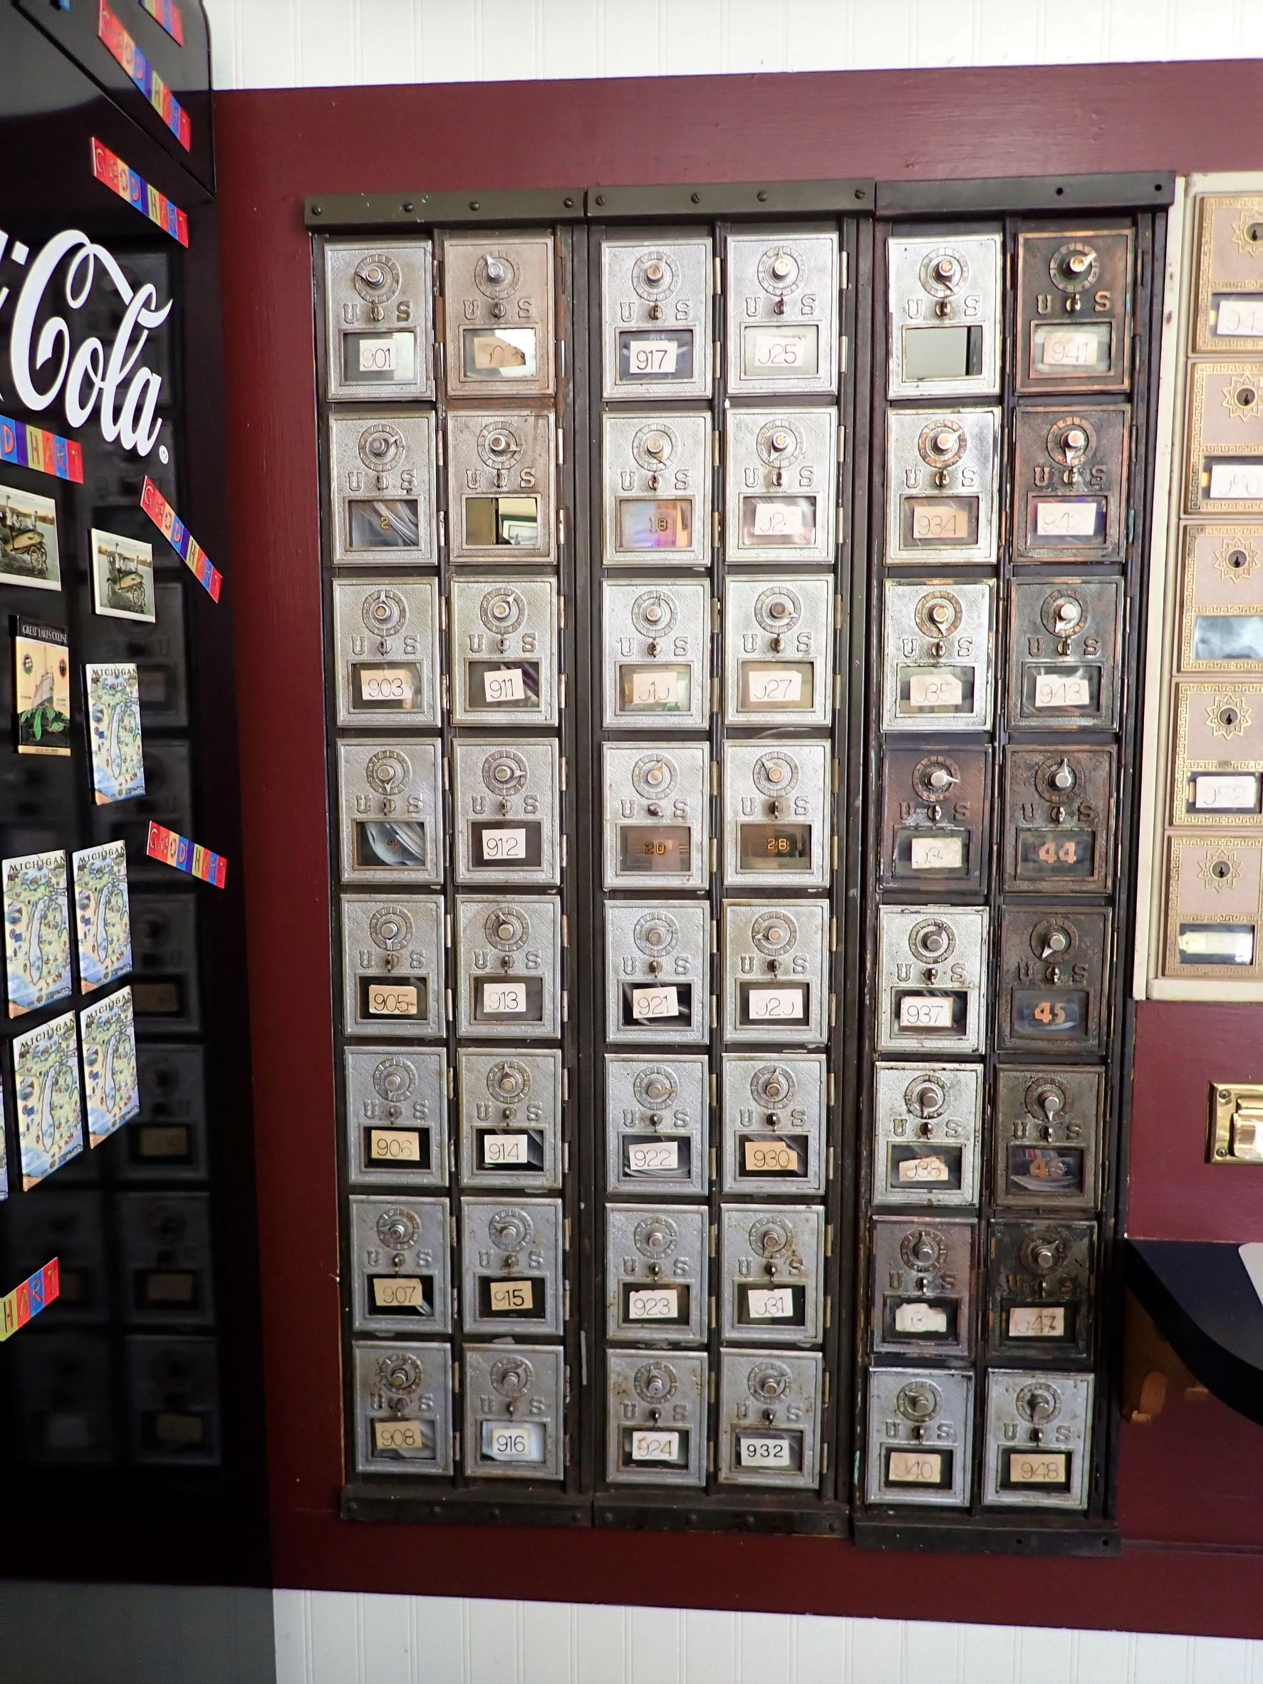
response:
M308 204L345 1514L1116 1543L1170 179L901 192Z

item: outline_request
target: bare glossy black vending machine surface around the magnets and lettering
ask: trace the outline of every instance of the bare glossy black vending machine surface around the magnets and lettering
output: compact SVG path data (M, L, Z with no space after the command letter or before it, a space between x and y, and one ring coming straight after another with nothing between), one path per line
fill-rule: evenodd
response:
M34 10L34 8L32 8ZM133 34L158 30L138 5L118 5ZM200 7L184 7L187 54L200 62ZM239 832L239 775L232 687L232 561L224 505L217 210L190 160L136 126L62 51L74 13L39 8L37 29L0 8L0 145L5 157L39 160L0 184L0 411L69 438L83 451L83 482L0 461L0 498L37 495L56 504L61 588L0 584L0 857L37 850L69 855L94 842L125 844L131 903L131 965L115 982L83 987L83 948L69 997L0 1022L0 1090L7 1115L8 1199L0 1204L2 1287L7 1292L61 1253L64 1288L44 1314L0 1347L5 1442L5 1568L93 1571L108 1559L118 1578L209 1583L266 1581L258 1256L246 925ZM94 42L94 35L91 37ZM108 59L104 47L94 47ZM157 57L157 56L155 56ZM113 62L113 61L109 61ZM121 72L120 72L121 74ZM194 83L197 83L194 76ZM180 83L173 76L180 91ZM113 83L108 86L115 88ZM125 101L126 104L126 101ZM209 94L202 101L207 120ZM179 244L93 175L96 140L187 216ZM192 160L195 163L195 160ZM79 231L79 241L72 231ZM67 352L91 370L91 340L106 364L111 347L133 365L118 394L93 392L71 416L54 354L34 370L47 402L24 408L13 369L13 325L40 285L40 253L67 236L42 298L34 333L64 318ZM27 246L24 254L19 248ZM71 296L69 266L79 264ZM152 286L160 317L120 338L128 298ZM56 333L54 327L49 327ZM88 347L86 350L83 347ZM20 352L19 352L20 355ZM83 359L88 359L84 364ZM152 443L133 446L116 428L131 379L160 382ZM91 392L91 379L83 394ZM136 392L136 402L143 387ZM106 409L111 416L106 421ZM121 411L126 413L126 411ZM162 530L141 510L150 477L222 573L212 601ZM152 546L153 620L120 618L135 601L93 584L93 530ZM103 611L104 610L104 611ZM113 611L111 611L113 610ZM12 714L17 618L67 633L67 754L17 754ZM135 663L147 791L94 800L86 663ZM227 861L214 887L147 854L155 818ZM71 909L74 896L71 891ZM74 911L71 913L74 921ZM81 1014L130 985L140 1064L140 1115L22 1189L13 1041L66 1012ZM27 1135L30 1130L25 1130ZM195 1211L192 1218L189 1212ZM185 1282L152 1282L162 1248L185 1243L209 1211L209 1248L197 1241L192 1293ZM177 1233L185 1223L184 1239ZM138 1263L138 1251L157 1244ZM167 1234L167 1239L162 1236ZM173 1253L172 1253L173 1256ZM182 1268L182 1265L172 1265ZM175 1295L163 1298L163 1288ZM185 1544L170 1551L179 1516ZM76 1537L67 1554L66 1536ZM44 1571L44 1568L40 1568Z

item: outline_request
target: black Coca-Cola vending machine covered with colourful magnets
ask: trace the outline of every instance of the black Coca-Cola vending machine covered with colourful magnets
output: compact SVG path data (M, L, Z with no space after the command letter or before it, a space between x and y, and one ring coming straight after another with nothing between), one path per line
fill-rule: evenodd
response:
M210 118L197 0L0 5L10 1575L266 1571Z

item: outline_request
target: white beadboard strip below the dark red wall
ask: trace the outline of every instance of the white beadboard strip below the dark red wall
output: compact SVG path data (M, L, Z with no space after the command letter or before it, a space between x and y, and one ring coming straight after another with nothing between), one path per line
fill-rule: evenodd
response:
M1263 1684L1224 1637L306 1590L274 1618L276 1684Z

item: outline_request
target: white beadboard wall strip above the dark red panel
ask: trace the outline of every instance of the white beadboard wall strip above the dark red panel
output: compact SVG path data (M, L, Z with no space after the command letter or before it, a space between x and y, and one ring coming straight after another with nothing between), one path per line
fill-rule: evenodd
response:
M1263 57L1260 0L205 0L219 88Z

